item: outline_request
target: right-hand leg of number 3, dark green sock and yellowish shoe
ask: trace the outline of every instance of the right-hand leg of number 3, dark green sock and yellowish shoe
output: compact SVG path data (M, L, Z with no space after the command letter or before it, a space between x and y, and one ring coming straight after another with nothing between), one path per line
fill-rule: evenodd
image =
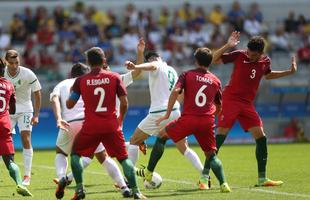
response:
M256 142L256 160L258 167L258 184L256 186L278 186L282 185L283 181L273 181L266 176L267 166L267 138L262 127L256 126L250 128Z

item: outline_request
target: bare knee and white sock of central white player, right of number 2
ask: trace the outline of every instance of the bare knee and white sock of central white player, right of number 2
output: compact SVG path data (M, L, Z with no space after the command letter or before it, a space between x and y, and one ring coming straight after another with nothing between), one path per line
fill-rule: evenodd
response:
M128 147L128 158L135 165L139 159L139 145L143 143L149 137L148 134L144 133L139 128L136 128L135 132L130 138Z

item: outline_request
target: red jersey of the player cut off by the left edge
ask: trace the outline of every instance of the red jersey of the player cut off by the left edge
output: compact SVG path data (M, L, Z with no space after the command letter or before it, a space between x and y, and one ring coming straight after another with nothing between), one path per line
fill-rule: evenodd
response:
M14 85L7 79L0 77L0 117L9 115L9 105L15 104L15 90Z

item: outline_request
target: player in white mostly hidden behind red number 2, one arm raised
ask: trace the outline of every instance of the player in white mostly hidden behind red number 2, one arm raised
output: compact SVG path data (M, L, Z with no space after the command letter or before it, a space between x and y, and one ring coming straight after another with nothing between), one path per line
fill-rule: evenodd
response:
M142 63L143 51L144 51L144 40L140 39L138 44L138 63ZM52 102L55 118L57 121L57 127L59 129L57 142L56 142L56 173L58 178L53 181L58 184L56 189L56 197L61 199L64 195L64 188L66 185L70 184L73 180L73 174L70 172L66 176L68 160L67 156L71 153L74 138L82 127L84 121L84 102L80 98L73 109L67 109L66 100L70 94L70 88L72 87L75 78L83 75L86 72L86 65L82 63L75 64L71 70L71 79L66 79L60 82L54 88L53 92L50 94L50 100ZM131 71L121 75L124 85L129 86L134 78L137 78L141 73L141 70ZM117 104L119 108L119 103ZM119 112L119 109L117 109ZM108 171L108 174L116 182L116 186L122 191L124 197L129 197L131 195L124 179L122 173L120 172L116 162L107 156L104 146L100 143L94 152L97 160L101 163ZM92 158L82 157L83 168L86 168Z

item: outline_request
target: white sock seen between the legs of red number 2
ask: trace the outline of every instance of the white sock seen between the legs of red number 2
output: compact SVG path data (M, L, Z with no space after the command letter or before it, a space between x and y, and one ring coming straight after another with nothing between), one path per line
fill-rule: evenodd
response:
M102 163L102 165L107 169L108 174L111 176L111 178L116 182L116 184L120 188L122 188L124 186L127 187L121 170L119 169L116 162L112 158L106 157L106 159Z

